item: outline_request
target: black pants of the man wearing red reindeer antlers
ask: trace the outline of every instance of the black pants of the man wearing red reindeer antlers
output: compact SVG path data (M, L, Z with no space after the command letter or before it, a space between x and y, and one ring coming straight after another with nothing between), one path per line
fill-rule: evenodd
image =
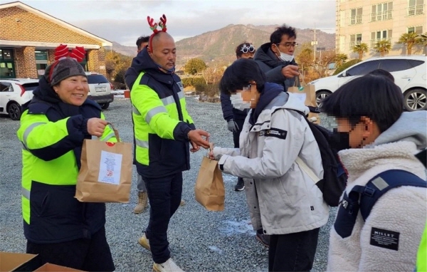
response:
M167 228L181 202L182 172L169 177L144 179L149 199L149 223L145 235L149 239L154 263L170 258Z

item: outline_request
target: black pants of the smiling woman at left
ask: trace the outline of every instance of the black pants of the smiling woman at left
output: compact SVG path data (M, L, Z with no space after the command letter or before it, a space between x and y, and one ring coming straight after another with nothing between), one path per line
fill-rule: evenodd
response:
M90 239L56 244L36 244L27 241L26 253L38 254L43 264L53 263L83 271L115 271L103 227Z

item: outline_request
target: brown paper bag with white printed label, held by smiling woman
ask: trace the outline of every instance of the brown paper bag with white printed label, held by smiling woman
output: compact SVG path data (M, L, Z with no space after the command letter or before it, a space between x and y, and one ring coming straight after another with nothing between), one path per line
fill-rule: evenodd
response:
M111 125L111 124L110 124ZM112 127L112 125L111 125ZM129 202L132 144L84 140L75 198L80 202Z

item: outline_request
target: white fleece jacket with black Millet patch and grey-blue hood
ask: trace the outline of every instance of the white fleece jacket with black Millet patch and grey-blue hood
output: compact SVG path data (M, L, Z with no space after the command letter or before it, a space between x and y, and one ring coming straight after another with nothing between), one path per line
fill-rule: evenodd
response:
M374 145L339 152L349 174L347 194L389 169L403 169L426 179L423 164L413 156L417 147L426 147L426 122L425 111L404 113ZM398 187L376 202L367 221L358 214L349 237L343 239L332 227L327 271L413 271L426 204L426 188ZM398 250L371 245L373 228L399 233Z

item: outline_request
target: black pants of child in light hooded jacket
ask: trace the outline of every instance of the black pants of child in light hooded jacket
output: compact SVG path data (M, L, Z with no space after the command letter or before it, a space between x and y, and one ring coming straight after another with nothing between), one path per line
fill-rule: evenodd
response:
M315 261L319 229L270 235L268 271L310 271Z

